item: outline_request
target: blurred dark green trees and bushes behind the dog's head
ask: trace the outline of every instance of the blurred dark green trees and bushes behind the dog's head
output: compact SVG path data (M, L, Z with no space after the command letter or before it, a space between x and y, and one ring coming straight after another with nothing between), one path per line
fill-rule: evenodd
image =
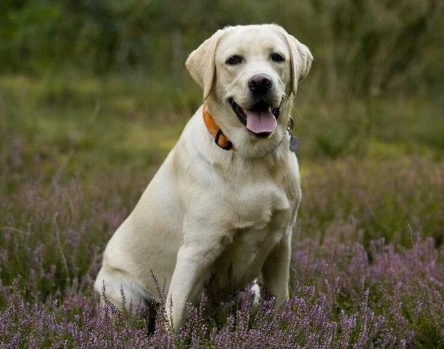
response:
M442 91L439 0L3 0L0 72L140 71L174 80L232 24L281 24L314 53L322 96ZM438 93L438 92L437 92Z

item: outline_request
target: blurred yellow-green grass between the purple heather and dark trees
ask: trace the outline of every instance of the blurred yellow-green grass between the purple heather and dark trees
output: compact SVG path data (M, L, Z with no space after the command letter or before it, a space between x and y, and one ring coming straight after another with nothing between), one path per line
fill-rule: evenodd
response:
M413 98L321 100L309 84L300 91L300 233L313 236L354 217L368 238L407 244L413 226L441 241L439 109ZM7 201L32 181L76 179L93 195L112 192L118 178L133 184L130 209L200 104L200 91L135 76L9 75L0 78L0 98Z

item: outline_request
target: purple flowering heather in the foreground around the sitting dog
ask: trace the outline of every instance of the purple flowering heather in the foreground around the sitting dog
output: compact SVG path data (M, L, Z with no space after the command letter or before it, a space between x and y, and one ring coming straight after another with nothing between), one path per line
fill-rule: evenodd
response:
M99 308L93 292L100 246L128 213L121 207L130 205L103 197L88 206L93 219L83 208L88 191L76 181L61 186L53 180L50 187L40 181L17 194L20 214L0 200L6 213L0 226L1 348L444 346L444 248L433 238L418 238L413 228L408 248L370 239L366 215L336 220L322 231L325 236L304 238L296 231L290 298L278 312L273 298L253 305L246 285L242 296L223 303L203 294L173 333L163 306L166 285L154 275L160 298L154 328L145 304L130 304L123 313L106 301ZM115 197L125 197L127 189ZM327 210L328 200L318 199ZM305 229L309 224L314 222L306 220Z

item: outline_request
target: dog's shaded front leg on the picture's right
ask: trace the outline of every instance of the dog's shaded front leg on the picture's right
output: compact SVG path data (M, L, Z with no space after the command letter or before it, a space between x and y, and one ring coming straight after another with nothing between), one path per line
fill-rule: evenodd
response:
M262 267L264 290L275 296L276 310L289 298L290 260L291 233L287 233L273 248Z

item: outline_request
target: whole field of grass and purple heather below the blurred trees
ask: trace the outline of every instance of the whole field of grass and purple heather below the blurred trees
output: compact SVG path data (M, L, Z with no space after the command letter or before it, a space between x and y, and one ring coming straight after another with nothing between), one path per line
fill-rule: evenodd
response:
M192 87L191 87L192 86ZM138 75L0 77L0 346L444 348L442 100L300 88L291 300L205 303L180 334L99 312L101 251L201 93ZM441 104L440 104L441 103ZM161 317L161 316L160 316Z

